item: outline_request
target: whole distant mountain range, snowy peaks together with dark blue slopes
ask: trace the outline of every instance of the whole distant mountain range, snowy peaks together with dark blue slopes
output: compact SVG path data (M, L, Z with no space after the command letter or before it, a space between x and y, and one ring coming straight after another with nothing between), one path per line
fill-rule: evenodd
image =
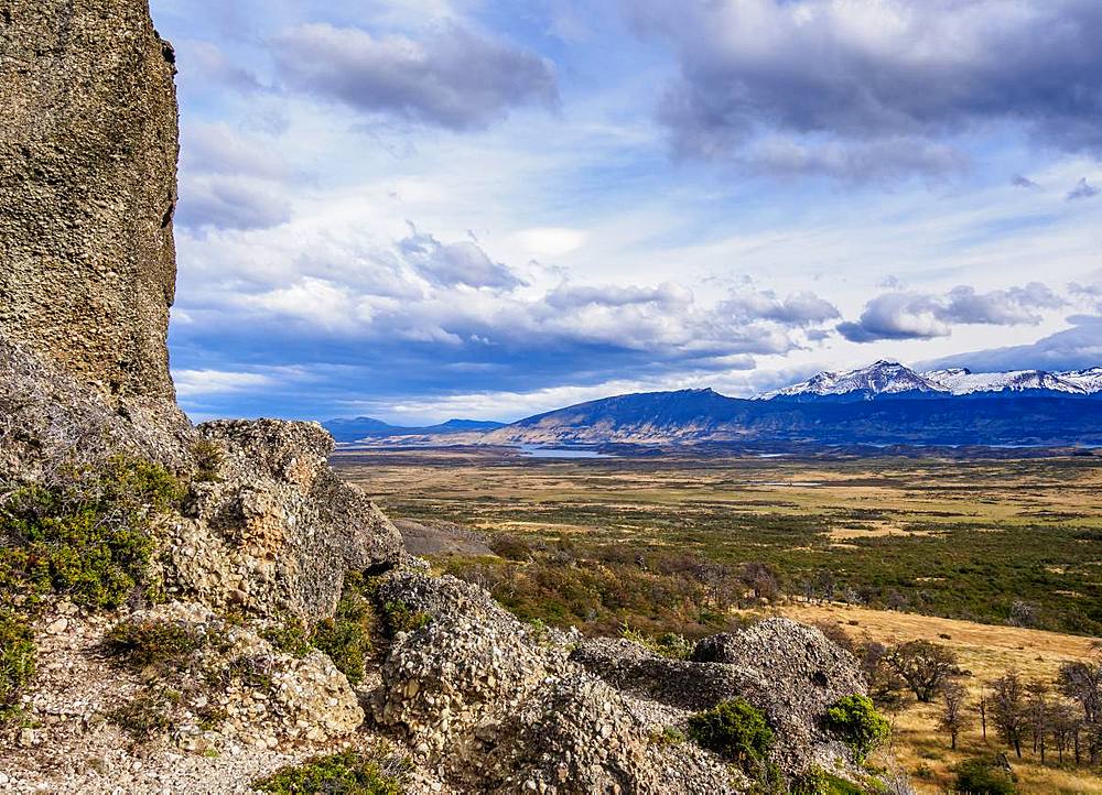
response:
M877 362L754 400L712 390L628 394L539 414L484 444L798 443L824 445L1102 446L1091 373L916 373ZM1098 381L1102 381L1099 379Z

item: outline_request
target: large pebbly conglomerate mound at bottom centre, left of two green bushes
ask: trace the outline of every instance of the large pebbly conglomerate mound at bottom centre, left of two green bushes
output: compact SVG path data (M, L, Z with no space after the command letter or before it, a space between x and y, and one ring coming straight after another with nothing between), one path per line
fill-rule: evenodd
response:
M383 601L423 613L400 635L374 697L377 722L462 792L735 793L741 777L691 743L662 743L685 714L617 691L569 660L576 636L536 630L480 588L388 575Z

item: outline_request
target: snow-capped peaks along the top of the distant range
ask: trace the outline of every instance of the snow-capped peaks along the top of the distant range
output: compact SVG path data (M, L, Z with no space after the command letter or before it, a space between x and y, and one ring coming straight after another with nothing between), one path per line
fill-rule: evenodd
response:
M760 394L756 400L873 400L879 395L950 398L998 393L1102 396L1102 367L1071 372L972 372L955 368L920 373L898 362L878 361L860 370L821 372L803 383Z

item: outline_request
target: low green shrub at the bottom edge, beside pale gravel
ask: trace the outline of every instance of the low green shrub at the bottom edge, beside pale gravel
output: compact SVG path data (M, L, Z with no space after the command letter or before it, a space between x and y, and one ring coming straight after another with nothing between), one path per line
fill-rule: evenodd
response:
M252 788L274 795L402 795L401 783L383 774L378 762L355 751L315 756L295 767L284 767L252 783Z

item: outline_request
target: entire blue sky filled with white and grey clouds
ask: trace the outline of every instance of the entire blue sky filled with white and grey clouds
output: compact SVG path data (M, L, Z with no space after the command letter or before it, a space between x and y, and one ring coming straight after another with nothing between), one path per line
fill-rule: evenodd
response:
M151 0L194 420L1102 364L1096 0Z

